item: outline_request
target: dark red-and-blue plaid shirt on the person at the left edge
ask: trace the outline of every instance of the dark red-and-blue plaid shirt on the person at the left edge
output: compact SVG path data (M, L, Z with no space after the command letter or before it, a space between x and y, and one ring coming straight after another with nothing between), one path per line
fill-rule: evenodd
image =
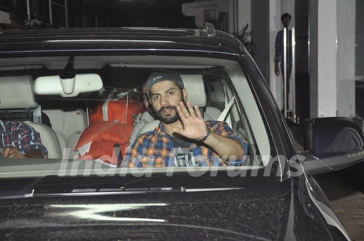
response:
M21 122L3 122L0 119L0 145L15 147L25 155L30 150L40 150L48 157L47 148L40 143L40 136L32 127Z

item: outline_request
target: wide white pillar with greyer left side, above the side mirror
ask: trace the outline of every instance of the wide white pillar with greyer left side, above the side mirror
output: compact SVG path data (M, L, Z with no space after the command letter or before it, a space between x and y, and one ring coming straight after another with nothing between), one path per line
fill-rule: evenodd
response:
M310 0L309 19L310 116L336 116L337 0Z

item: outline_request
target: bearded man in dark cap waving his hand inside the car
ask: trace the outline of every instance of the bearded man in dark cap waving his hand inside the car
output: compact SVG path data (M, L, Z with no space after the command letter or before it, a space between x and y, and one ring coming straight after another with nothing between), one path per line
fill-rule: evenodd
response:
M205 122L176 73L152 73L146 84L153 111L161 121L138 137L123 167L239 165L248 143L224 122Z

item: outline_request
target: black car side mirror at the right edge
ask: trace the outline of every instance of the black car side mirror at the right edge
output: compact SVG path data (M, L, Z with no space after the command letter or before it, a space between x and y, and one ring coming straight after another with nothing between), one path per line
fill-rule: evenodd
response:
M364 133L347 117L308 119L302 163L308 175L340 170L364 159Z

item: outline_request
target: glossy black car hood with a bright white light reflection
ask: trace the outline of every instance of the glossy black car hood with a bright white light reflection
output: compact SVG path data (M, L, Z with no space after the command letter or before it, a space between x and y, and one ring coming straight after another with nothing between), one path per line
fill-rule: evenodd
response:
M8 199L0 201L0 233L10 239L331 239L304 191L286 180L230 191Z

